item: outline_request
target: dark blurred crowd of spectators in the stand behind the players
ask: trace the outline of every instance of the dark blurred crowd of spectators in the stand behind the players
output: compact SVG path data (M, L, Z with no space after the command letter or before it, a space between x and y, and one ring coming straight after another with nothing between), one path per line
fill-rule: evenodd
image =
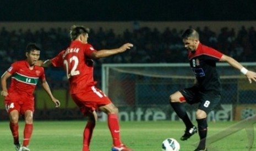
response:
M184 29L185 30L185 29ZM197 27L200 42L213 47L241 62L253 62L256 58L256 31L254 27L242 26L239 31L231 27L223 27L218 33L207 26ZM122 34L116 34L113 29L103 28L90 30L89 43L95 49L112 49L126 42L134 44L134 48L123 54L97 60L101 63L173 63L187 62L187 50L183 48L181 34L183 30L169 28L160 32L157 28L139 27L133 31L128 29ZM7 27L0 30L0 65L24 59L26 44L34 42L41 47L41 59L49 59L65 49L69 43L69 30L66 28L51 28L46 31L41 28L31 32L30 29L8 31Z

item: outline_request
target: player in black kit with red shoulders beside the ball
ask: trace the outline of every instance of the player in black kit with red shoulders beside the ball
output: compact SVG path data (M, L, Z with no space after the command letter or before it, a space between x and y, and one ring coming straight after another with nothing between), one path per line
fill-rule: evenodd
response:
M194 133L199 132L200 142L195 151L203 151L207 150L205 144L208 129L207 115L220 103L221 98L222 88L220 76L216 70L216 62L227 62L232 67L239 69L246 75L249 83L252 83L252 80L256 82L256 73L248 71L232 57L201 44L198 32L192 28L189 28L183 33L182 39L184 47L188 49L189 64L195 75L196 82L194 86L172 94L170 96L170 103L178 117L186 125L186 130L181 140L185 141L194 135ZM186 113L186 108L182 104L184 102L189 104L199 103L196 112L198 127L194 126L190 121Z

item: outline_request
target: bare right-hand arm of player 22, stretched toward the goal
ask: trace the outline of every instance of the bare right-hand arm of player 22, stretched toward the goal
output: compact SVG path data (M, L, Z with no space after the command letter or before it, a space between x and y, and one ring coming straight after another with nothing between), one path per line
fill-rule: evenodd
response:
M95 52L91 53L91 58L92 59L100 59L102 57L108 57L111 55L123 53L124 51L126 51L132 47L133 47L133 44L126 43L117 49L110 49L110 50L103 49L103 50L95 51Z

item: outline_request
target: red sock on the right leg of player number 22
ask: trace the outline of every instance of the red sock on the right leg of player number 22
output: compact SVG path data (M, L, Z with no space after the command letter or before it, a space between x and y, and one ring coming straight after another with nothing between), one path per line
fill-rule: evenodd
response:
M119 146L121 143L120 141L120 129L119 129L119 121L117 114L108 114L108 128L110 129L112 138L113 138L113 145Z

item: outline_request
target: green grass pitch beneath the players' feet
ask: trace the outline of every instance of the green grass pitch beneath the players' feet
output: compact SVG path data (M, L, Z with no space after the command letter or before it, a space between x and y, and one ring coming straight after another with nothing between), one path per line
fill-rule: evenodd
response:
M34 131L30 140L29 148L32 151L40 150L81 150L84 121L34 121ZM228 126L236 125L237 122L209 122L208 136L227 129ZM180 121L129 121L121 122L121 139L128 147L135 151L161 150L162 141L168 137L176 138L181 145L181 151L194 150L199 140L195 134L187 141L179 141L183 135L184 125ZM254 129L255 129L255 125ZM24 120L20 120L20 142L23 138ZM226 131L223 131L225 133ZM255 132L253 131L255 134ZM251 133L252 134L252 133ZM253 137L250 137L253 138ZM253 138L255 142L255 137ZM14 150L13 138L9 130L8 121L0 121L0 150ZM210 145L211 150L248 150L248 138L246 130L241 129L219 139ZM106 122L96 124L91 141L91 151L111 150L112 140ZM210 150L210 149L209 149ZM210 150L210 151L211 151ZM256 150L255 144L251 150Z

